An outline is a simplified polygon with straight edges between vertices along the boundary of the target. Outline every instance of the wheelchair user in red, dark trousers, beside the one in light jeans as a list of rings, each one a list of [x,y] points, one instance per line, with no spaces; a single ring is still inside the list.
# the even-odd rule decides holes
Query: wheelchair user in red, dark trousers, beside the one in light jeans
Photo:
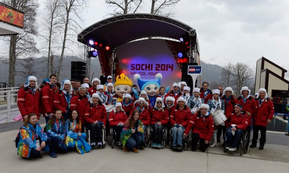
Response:
[[[163,99],[157,97],[155,107],[150,108],[151,122],[153,129],[152,147],[162,147],[163,130],[168,123],[168,111],[165,109]]]

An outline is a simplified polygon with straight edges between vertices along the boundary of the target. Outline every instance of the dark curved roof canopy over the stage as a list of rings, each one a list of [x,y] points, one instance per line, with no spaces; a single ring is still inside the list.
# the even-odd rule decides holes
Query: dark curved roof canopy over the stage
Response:
[[[103,45],[117,47],[145,37],[179,40],[184,34],[198,43],[195,29],[185,23],[159,15],[126,14],[107,18],[87,27],[78,34],[78,41],[89,45],[89,40],[93,40]]]

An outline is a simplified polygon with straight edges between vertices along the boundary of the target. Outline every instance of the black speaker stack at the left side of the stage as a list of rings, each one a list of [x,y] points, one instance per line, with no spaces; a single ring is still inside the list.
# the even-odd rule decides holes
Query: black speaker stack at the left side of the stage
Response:
[[[72,61],[71,62],[71,79],[80,80],[86,77],[86,63],[82,61]]]

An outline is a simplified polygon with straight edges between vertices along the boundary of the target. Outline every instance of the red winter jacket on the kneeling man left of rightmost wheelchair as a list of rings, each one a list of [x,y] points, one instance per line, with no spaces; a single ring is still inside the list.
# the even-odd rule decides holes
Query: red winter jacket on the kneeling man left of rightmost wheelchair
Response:
[[[202,118],[198,111],[189,120],[185,133],[188,135],[191,129],[192,133],[199,133],[200,138],[210,141],[214,131],[214,120],[210,115]]]

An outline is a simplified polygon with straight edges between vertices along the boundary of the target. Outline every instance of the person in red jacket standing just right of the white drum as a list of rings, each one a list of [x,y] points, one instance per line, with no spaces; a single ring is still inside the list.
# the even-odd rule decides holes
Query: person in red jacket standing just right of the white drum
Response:
[[[220,90],[221,92],[221,90]],[[223,95],[221,97],[221,100],[224,100],[225,102],[225,115],[232,113],[234,111],[235,104],[238,103],[238,100],[234,97],[234,91],[231,87],[226,87],[223,91]],[[225,137],[227,127],[223,126],[222,124],[219,125],[218,131],[217,131],[217,142],[221,142],[220,137],[223,132],[223,139]]]

